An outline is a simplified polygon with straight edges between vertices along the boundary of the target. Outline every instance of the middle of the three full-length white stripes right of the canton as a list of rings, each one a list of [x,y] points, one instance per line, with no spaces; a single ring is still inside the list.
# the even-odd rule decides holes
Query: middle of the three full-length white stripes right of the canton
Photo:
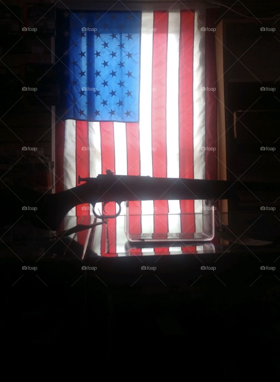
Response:
[[[180,11],[168,13],[166,74],[166,151],[167,177],[179,178],[179,40]],[[169,232],[180,232],[180,202],[169,200]],[[176,215],[175,215],[176,214]]]

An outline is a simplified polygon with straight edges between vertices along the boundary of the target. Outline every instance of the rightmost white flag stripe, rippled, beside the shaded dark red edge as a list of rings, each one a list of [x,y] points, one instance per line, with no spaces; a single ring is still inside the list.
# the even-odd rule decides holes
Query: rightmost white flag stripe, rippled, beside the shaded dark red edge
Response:
[[[195,11],[193,45],[193,160],[194,178],[205,179],[205,9]],[[195,200],[195,230],[202,232],[202,203]]]

